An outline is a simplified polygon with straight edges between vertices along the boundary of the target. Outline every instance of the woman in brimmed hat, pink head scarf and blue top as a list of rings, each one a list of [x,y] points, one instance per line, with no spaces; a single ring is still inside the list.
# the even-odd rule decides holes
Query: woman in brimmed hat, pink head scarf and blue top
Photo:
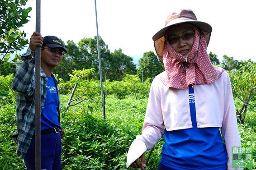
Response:
[[[144,152],[164,135],[158,170],[231,169],[232,147],[241,142],[229,76],[207,54],[211,32],[182,9],[153,36],[165,71],[152,81],[142,134],[129,148],[127,167],[144,170]]]

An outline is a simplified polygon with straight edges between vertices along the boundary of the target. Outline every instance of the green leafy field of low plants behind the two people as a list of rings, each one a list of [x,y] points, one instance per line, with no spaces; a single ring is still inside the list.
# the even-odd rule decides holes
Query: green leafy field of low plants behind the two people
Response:
[[[62,95],[62,107],[69,96]],[[126,170],[128,147],[141,133],[147,98],[118,99],[107,95],[106,119],[103,119],[100,102],[91,113],[83,102],[62,113],[62,126],[66,136],[62,140],[63,170]],[[15,129],[15,106],[0,108],[0,170],[23,170],[23,161],[15,154],[16,144],[10,138]],[[248,113],[245,124],[239,124],[243,146],[256,150],[256,116]],[[156,170],[161,157],[163,139],[152,153],[147,170]],[[146,154],[147,159],[148,152]],[[255,160],[255,157],[254,157]],[[133,169],[133,168],[129,168]]]

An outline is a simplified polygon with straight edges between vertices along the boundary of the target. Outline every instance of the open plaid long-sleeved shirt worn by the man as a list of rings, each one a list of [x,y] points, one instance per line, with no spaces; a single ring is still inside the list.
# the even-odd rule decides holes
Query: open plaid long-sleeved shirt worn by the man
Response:
[[[16,126],[13,134],[16,137],[17,154],[23,159],[28,151],[31,138],[35,131],[35,60],[34,51],[28,48],[27,52],[21,56],[23,63],[19,65],[14,76],[11,87],[18,92],[16,102]],[[30,57],[26,60],[26,57]],[[47,94],[47,77],[41,68],[41,113]],[[59,98],[58,121],[60,123],[60,96],[57,79],[52,75]]]

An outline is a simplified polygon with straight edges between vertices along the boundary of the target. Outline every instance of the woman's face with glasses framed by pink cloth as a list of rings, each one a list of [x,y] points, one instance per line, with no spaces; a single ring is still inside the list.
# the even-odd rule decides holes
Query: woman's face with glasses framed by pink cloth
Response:
[[[177,28],[169,33],[167,41],[176,53],[180,53],[186,58],[193,46],[194,30],[189,27]]]

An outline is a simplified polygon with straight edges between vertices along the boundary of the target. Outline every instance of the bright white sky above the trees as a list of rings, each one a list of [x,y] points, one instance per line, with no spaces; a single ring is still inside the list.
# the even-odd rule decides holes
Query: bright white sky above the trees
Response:
[[[35,31],[36,0],[28,0],[31,18],[24,27],[27,39]],[[221,61],[256,61],[254,52],[256,18],[253,0],[96,0],[98,33],[110,52],[122,49],[138,60],[154,51],[152,36],[164,27],[166,17],[180,9],[191,9],[199,21],[209,23],[213,32],[207,52]],[[97,36],[95,0],[41,0],[42,36],[73,40]],[[156,54],[156,53],[155,53]]]

